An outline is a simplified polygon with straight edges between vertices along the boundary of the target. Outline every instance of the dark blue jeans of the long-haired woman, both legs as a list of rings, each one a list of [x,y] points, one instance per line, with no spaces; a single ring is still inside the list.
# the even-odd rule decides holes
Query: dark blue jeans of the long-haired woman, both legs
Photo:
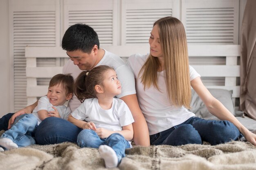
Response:
[[[239,130],[229,121],[205,120],[191,117],[180,125],[173,126],[157,134],[150,135],[150,145],[185,145],[189,143],[211,145],[238,140]]]

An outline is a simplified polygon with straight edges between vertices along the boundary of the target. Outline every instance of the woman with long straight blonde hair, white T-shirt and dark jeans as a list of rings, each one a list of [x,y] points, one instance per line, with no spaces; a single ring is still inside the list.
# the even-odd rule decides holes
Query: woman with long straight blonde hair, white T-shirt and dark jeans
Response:
[[[237,140],[240,132],[256,145],[256,135],[210,94],[200,75],[189,66],[186,33],[180,20],[157,20],[149,44],[150,54],[132,55],[128,65],[136,78],[139,106],[148,124],[151,145],[202,141],[216,145]],[[226,121],[204,120],[189,112],[191,86],[208,110]]]

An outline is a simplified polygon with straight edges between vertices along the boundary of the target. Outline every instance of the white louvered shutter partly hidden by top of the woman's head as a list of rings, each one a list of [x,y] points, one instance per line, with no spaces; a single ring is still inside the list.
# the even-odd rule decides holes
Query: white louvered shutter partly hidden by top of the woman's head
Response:
[[[148,44],[153,23],[159,18],[176,16],[177,0],[122,0],[121,45]]]

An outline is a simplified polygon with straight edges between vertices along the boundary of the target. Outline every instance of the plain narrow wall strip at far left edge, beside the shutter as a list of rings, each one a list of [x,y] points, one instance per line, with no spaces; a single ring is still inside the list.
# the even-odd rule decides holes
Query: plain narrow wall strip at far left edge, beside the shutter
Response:
[[[0,117],[10,109],[9,2],[0,0]]]

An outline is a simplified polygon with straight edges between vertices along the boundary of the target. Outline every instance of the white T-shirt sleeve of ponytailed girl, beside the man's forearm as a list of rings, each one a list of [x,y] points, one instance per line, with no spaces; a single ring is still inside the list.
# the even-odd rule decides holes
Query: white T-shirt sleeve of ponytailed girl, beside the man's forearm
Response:
[[[124,103],[124,101],[121,103],[121,106],[119,107],[119,122],[121,127],[130,125],[134,122],[134,119],[132,117],[132,113],[130,112],[129,107]]]

